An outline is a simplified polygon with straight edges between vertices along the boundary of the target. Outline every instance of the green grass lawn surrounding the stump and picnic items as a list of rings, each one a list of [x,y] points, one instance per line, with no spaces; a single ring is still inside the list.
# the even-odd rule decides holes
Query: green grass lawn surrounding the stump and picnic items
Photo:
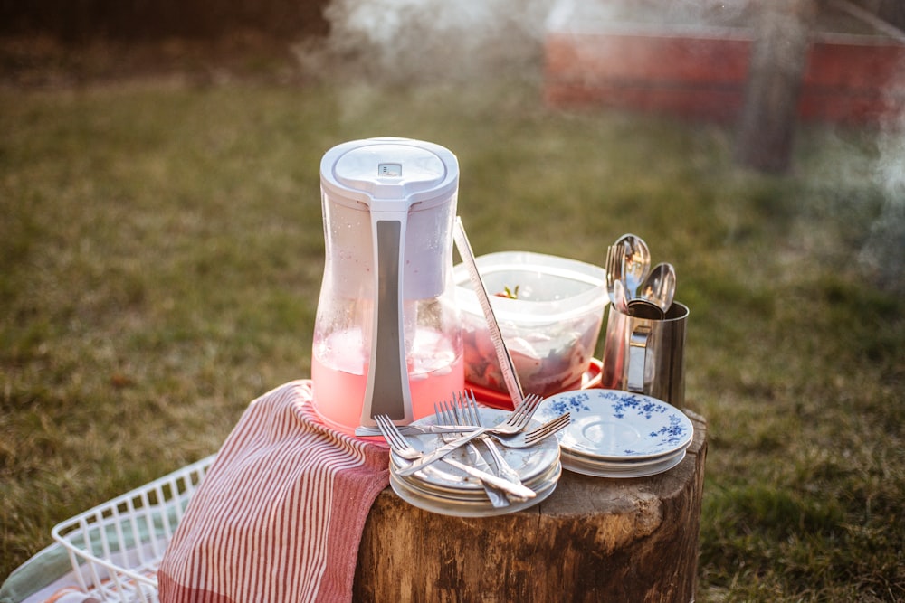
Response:
[[[758,176],[729,127],[482,88],[0,90],[0,576],[310,375],[320,156],[397,135],[459,156],[479,254],[602,263],[632,231],[676,266],[699,600],[905,598],[905,195],[874,133],[805,127]]]

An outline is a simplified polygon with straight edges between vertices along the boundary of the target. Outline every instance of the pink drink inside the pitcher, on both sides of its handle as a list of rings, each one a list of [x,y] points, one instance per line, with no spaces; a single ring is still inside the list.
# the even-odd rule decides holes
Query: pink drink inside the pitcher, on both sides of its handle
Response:
[[[330,427],[352,434],[361,422],[367,387],[369,350],[361,330],[329,335],[311,357],[314,408]],[[429,329],[418,329],[412,349],[406,353],[408,382],[414,419],[433,415],[433,404],[451,400],[465,384],[462,353],[450,340]]]

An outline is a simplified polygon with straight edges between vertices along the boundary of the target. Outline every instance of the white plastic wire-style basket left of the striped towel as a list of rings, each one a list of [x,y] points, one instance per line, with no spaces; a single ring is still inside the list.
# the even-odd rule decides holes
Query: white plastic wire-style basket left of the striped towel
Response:
[[[80,588],[103,601],[157,603],[157,566],[215,455],[53,526]]]

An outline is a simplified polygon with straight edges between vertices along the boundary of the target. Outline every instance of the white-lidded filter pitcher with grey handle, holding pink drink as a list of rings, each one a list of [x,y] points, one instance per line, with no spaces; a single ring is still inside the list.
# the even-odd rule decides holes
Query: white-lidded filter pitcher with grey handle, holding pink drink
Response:
[[[370,138],[320,164],[325,265],[314,406],[336,429],[408,423],[464,385],[452,278],[459,166],[429,142]]]

